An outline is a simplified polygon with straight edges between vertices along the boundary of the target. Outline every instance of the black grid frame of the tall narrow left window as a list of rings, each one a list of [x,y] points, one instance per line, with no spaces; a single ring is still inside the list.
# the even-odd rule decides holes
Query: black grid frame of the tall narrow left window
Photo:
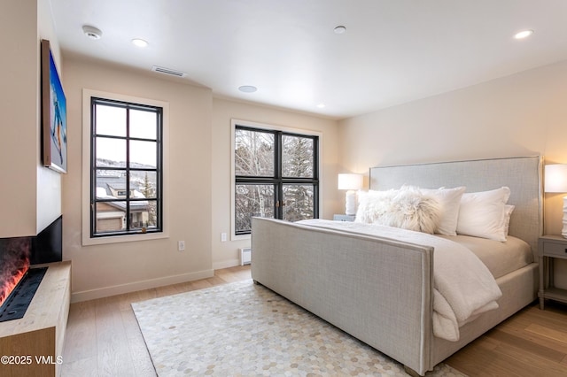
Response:
[[[105,138],[119,139],[126,141],[126,161],[124,167],[104,166],[97,167],[97,104],[124,108],[127,111],[126,117],[126,136],[101,135]],[[151,111],[156,113],[156,139],[147,139],[130,136],[129,110]],[[127,101],[114,100],[99,96],[90,97],[90,238],[104,238],[119,235],[144,235],[163,233],[163,107],[151,104],[136,104]],[[131,141],[156,142],[156,167],[137,168],[130,166],[129,148]],[[126,173],[126,197],[97,198],[97,170],[124,171]],[[155,172],[156,173],[156,195],[155,198],[136,198],[131,197],[130,193],[130,172]],[[156,226],[155,227],[136,227],[130,228],[130,204],[139,201],[154,201],[156,203]],[[120,231],[97,232],[97,203],[126,202],[126,229]]]

